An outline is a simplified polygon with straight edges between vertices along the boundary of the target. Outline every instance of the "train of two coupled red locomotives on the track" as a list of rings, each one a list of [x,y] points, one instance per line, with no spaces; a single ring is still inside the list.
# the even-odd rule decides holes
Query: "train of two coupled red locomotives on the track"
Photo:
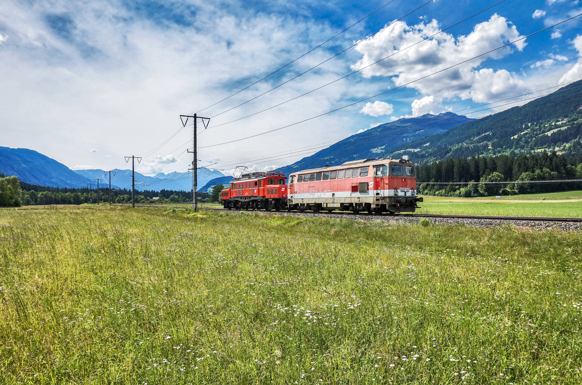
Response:
[[[339,166],[243,174],[222,191],[225,208],[414,212],[423,198],[416,194],[414,164],[402,159],[361,159]]]

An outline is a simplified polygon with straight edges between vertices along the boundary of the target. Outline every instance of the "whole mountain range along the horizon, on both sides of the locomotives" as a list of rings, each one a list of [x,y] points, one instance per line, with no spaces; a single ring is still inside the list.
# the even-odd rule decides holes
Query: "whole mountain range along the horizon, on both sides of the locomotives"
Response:
[[[290,173],[354,159],[399,158],[409,155],[415,163],[473,155],[519,155],[539,151],[567,153],[582,140],[582,80],[523,106],[481,119],[452,112],[426,114],[380,124],[332,144],[278,170]],[[578,150],[576,150],[578,151]],[[577,154],[574,154],[577,155]],[[582,155],[582,154],[580,154]],[[116,188],[131,188],[130,170],[113,170]],[[0,147],[0,173],[50,187],[86,187],[94,179],[105,180],[103,170],[70,170],[62,163],[26,148]],[[227,184],[232,177],[217,170],[198,173],[198,191]],[[191,189],[191,173],[159,173],[153,177],[136,173],[136,189]]]

